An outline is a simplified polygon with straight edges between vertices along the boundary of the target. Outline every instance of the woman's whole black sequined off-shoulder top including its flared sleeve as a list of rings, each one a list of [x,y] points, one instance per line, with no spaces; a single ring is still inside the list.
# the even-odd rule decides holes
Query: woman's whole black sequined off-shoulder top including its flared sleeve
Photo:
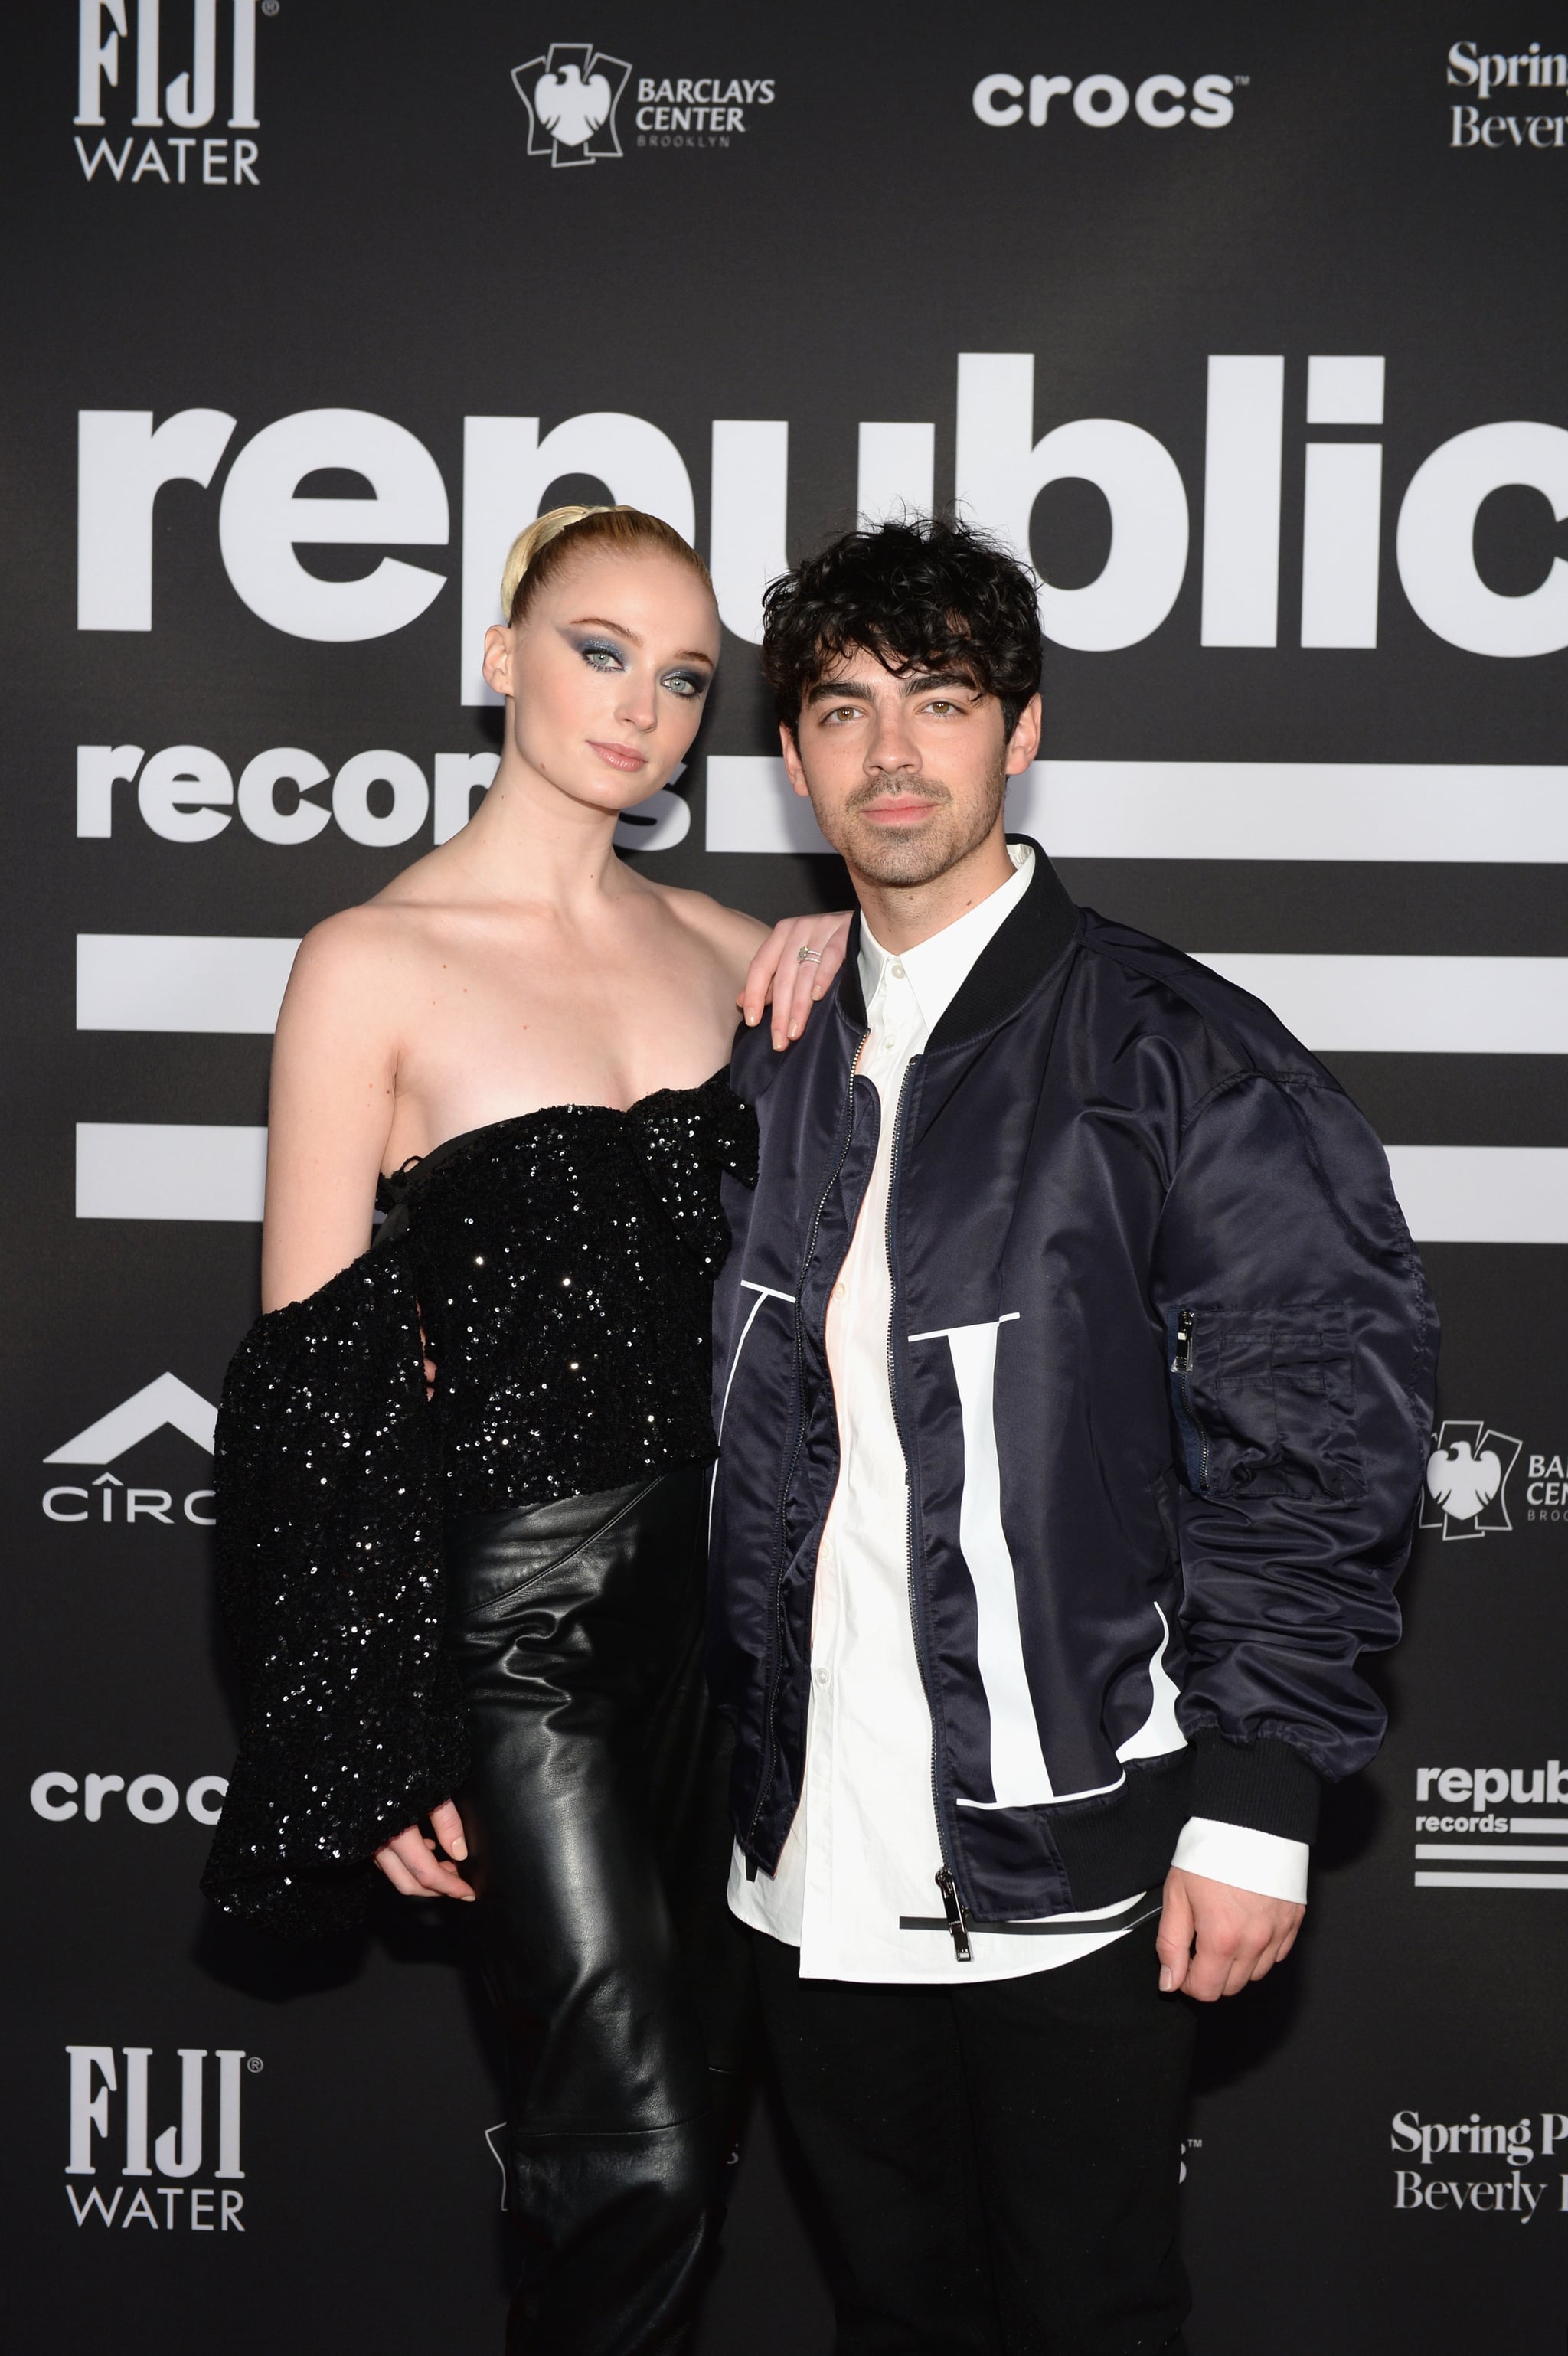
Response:
[[[497,1121],[386,1180],[379,1244],[250,1329],[214,1472],[247,1685],[202,1875],[224,1911],[356,1922],[374,1849],[459,1788],[443,1522],[713,1454],[725,1171],[756,1180],[723,1074]]]

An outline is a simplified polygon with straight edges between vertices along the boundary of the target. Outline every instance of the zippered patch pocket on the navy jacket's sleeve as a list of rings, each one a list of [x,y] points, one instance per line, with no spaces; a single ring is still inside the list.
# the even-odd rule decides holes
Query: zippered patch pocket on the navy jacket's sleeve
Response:
[[[1316,1501],[1366,1494],[1354,1359],[1337,1303],[1184,1308],[1170,1329],[1170,1390],[1191,1489]]]

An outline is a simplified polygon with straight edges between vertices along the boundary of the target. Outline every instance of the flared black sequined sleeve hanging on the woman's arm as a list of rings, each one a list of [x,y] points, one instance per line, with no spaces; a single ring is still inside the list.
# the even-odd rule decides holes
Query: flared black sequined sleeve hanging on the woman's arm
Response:
[[[464,1774],[405,1246],[242,1341],[217,1425],[217,1553],[245,1732],[202,1890],[292,1937],[344,1930],[372,1852]]]

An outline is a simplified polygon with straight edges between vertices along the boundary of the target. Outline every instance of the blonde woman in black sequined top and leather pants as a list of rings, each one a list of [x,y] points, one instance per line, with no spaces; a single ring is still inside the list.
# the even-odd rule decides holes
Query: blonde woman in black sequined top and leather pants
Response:
[[[702,1682],[718,1185],[753,1159],[723,1065],[749,961],[749,1020],[784,957],[798,1032],[843,921],[765,935],[614,858],[718,660],[669,525],[553,509],[501,610],[483,808],[308,935],[278,1023],[268,1315],[219,1425],[252,1708],[207,1887],[332,1927],[374,1852],[478,1899],[509,2347],[643,2356],[695,2307],[744,2029]]]

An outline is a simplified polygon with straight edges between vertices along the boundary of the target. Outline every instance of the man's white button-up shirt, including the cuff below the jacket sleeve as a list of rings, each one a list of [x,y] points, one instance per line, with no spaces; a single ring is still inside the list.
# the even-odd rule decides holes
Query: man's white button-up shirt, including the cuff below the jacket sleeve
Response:
[[[866,1044],[857,1079],[881,1100],[881,1136],[850,1251],[829,1298],[826,1357],[838,1409],[838,1487],[817,1553],[812,1692],[805,1786],[779,1871],[746,1880],[735,1852],[730,1908],[742,1922],[800,1948],[805,1979],[954,1981],[1015,1979],[1090,1955],[1125,1937],[1132,1894],[1088,1915],[1083,1932],[989,1932],[970,1925],[961,1963],[942,1920],[942,1845],[932,1795],[932,1725],[913,1644],[904,1447],[888,1388],[892,1284],[885,1225],[897,1100],[911,1055],[1003,921],[1029,891],[1034,851],[1010,846],[1015,874],[946,931],[902,957],[862,919],[859,978]],[[1304,1897],[1307,1847],[1231,1824],[1194,1819],[1177,1864],[1236,1887]],[[1260,1878],[1262,1875],[1262,1878]],[[1149,1913],[1156,1901],[1149,1901]],[[1107,1927],[1095,1927],[1104,1918]]]

